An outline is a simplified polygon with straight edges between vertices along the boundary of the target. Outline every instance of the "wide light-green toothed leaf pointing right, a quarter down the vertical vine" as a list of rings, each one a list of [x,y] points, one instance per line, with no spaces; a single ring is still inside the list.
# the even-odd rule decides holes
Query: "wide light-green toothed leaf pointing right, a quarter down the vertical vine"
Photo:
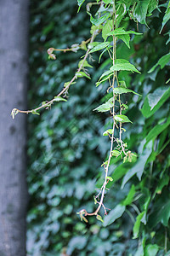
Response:
[[[133,66],[129,61],[123,59],[117,59],[115,65],[110,68],[111,71],[127,70],[131,72],[140,73],[136,67]]]

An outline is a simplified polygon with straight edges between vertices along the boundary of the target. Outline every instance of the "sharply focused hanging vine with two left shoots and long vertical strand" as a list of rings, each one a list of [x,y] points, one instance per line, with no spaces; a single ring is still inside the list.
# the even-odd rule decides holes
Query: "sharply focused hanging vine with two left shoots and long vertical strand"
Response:
[[[78,1],[79,9],[84,1]],[[99,9],[96,13],[97,18],[94,18],[93,15],[90,13],[91,8],[93,6],[99,5]],[[123,27],[119,26],[122,20],[122,17],[126,15],[127,11],[122,9],[123,4],[119,3],[115,0],[105,0],[102,2],[97,1],[97,3],[88,3],[87,5],[87,13],[90,15],[90,21],[92,23],[92,37],[86,41],[82,41],[82,44],[73,44],[71,48],[67,49],[55,49],[49,48],[48,49],[48,56],[50,59],[55,60],[56,56],[54,55],[54,51],[74,51],[77,52],[78,49],[87,49],[86,54],[83,56],[82,61],[79,62],[79,67],[77,72],[75,73],[74,77],[71,79],[70,82],[64,84],[63,90],[61,90],[57,96],[50,101],[42,102],[42,105],[37,108],[33,108],[31,110],[20,110],[18,108],[14,108],[12,110],[12,117],[14,119],[17,113],[33,113],[39,114],[37,111],[41,110],[42,108],[48,109],[51,108],[54,102],[66,101],[65,95],[66,92],[69,90],[71,84],[75,83],[75,80],[81,77],[86,77],[89,79],[89,75],[87,72],[82,71],[83,67],[90,67],[88,64],[88,55],[93,54],[99,50],[103,50],[102,54],[99,56],[99,61],[101,56],[107,52],[111,58],[111,67],[109,70],[105,71],[99,78],[99,81],[96,83],[96,86],[108,82],[109,86],[106,90],[106,93],[109,93],[110,90],[112,91],[111,98],[105,102],[104,104],[100,105],[98,108],[95,108],[95,111],[98,112],[107,112],[111,113],[112,119],[112,128],[104,132],[104,136],[109,136],[111,139],[111,147],[109,151],[108,159],[102,165],[104,166],[105,170],[105,177],[104,182],[99,190],[99,194],[94,196],[94,203],[98,205],[94,212],[88,212],[86,209],[82,209],[77,214],[80,215],[80,218],[84,221],[88,222],[88,219],[85,216],[96,216],[97,219],[103,221],[102,217],[99,215],[99,211],[101,208],[104,209],[105,215],[107,214],[107,208],[104,204],[105,198],[105,191],[106,185],[110,181],[112,181],[112,177],[109,176],[109,166],[111,164],[112,157],[118,157],[121,155],[123,161],[131,161],[135,154],[131,153],[130,150],[127,150],[127,144],[123,143],[122,141],[122,132],[125,129],[122,127],[123,123],[132,123],[126,115],[122,114],[122,111],[127,108],[127,105],[122,102],[121,95],[122,93],[134,93],[133,90],[127,89],[126,81],[120,81],[117,75],[118,71],[129,71],[129,72],[136,72],[139,73],[138,69],[134,67],[129,61],[124,59],[116,59],[116,41],[122,40],[127,47],[130,47],[130,34],[140,35],[139,32],[133,31],[125,31]],[[132,14],[131,14],[132,15]],[[102,32],[102,38],[104,39],[103,42],[95,42],[95,38],[98,34]],[[64,96],[64,97],[61,97]],[[115,105],[116,102],[119,103],[119,113],[116,113]],[[119,131],[119,137],[115,137],[115,129]]]

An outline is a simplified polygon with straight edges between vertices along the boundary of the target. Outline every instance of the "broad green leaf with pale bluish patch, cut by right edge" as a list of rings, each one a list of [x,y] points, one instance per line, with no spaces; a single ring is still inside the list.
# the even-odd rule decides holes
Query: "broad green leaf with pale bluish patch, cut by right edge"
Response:
[[[170,96],[170,87],[157,88],[153,93],[150,93],[144,99],[144,105],[141,109],[144,117],[149,118],[155,113],[161,105],[167,101]]]

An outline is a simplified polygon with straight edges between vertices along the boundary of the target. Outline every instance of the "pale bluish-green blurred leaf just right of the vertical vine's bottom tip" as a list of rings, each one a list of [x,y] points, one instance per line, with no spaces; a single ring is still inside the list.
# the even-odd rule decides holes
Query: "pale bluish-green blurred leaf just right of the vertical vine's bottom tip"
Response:
[[[126,207],[122,205],[117,205],[115,209],[111,210],[108,215],[104,218],[104,226],[111,225],[117,218],[122,216],[122,213],[125,211]]]

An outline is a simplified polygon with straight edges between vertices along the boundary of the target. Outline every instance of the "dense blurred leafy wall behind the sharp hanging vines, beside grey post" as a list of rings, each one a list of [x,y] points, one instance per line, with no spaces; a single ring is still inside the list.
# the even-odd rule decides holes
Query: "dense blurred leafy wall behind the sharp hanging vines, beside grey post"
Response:
[[[29,116],[28,255],[169,255],[169,59],[161,59],[169,51],[169,24],[161,31],[167,2],[159,4],[155,9],[138,3],[134,16],[144,34],[131,36],[130,49],[122,40],[117,44],[117,57],[141,73],[119,73],[127,88],[141,95],[123,95],[126,115],[133,121],[124,125],[123,139],[138,157],[130,163],[112,160],[113,181],[105,195],[111,211],[104,224],[96,218],[81,222],[77,212],[95,209],[93,195],[102,183],[101,164],[110,148],[108,137],[102,136],[109,128],[109,113],[93,111],[105,95],[107,84],[96,88],[95,83],[107,70],[109,56],[103,55],[103,64],[99,54],[90,57],[92,79],[72,84],[67,102]],[[31,1],[30,108],[53,98],[77,70],[85,51],[57,53],[56,61],[47,55],[49,47],[64,49],[90,38],[89,16],[84,5],[78,14],[77,9],[76,1]],[[133,20],[122,24],[136,31]]]

